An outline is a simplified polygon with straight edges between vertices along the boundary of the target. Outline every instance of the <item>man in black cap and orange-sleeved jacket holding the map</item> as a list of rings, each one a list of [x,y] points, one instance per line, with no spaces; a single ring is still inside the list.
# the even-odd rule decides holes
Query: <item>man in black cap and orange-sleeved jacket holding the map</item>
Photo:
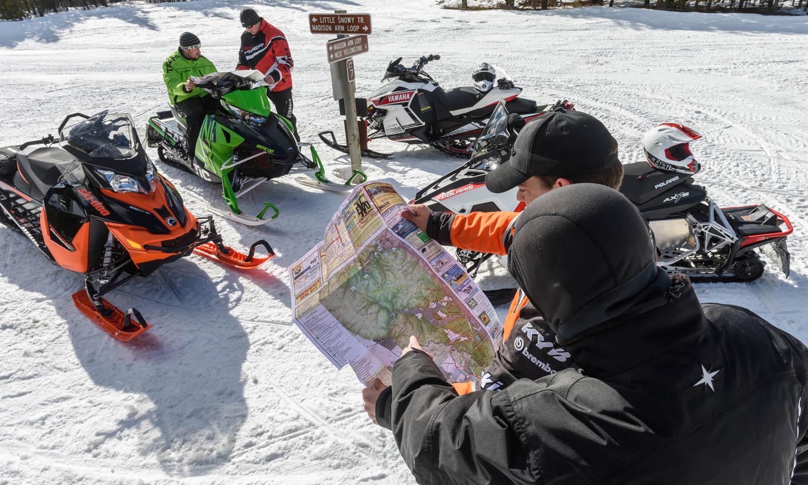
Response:
[[[572,183],[600,183],[620,188],[623,165],[617,141],[594,116],[555,108],[526,124],[516,138],[511,159],[486,176],[491,192],[518,187],[521,206],[538,196]],[[519,212],[432,213],[426,205],[413,205],[415,213],[402,213],[444,246],[506,255]],[[528,338],[529,337],[529,338]],[[529,342],[516,352],[516,339]],[[524,352],[521,352],[524,350]],[[555,335],[530,305],[524,291],[511,302],[503,325],[503,345],[478,381],[455,382],[460,394],[477,389],[501,390],[521,377],[536,379],[566,369],[573,362],[555,344]],[[389,427],[390,390],[381,382],[363,391],[371,419]]]

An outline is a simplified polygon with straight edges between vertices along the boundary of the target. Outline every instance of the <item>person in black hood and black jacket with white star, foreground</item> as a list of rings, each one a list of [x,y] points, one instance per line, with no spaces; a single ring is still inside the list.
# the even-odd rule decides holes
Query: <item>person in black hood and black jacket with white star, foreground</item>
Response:
[[[528,205],[508,269],[580,369],[458,396],[407,348],[391,424],[416,481],[808,483],[808,348],[749,310],[701,305],[654,259],[646,221],[610,188]]]

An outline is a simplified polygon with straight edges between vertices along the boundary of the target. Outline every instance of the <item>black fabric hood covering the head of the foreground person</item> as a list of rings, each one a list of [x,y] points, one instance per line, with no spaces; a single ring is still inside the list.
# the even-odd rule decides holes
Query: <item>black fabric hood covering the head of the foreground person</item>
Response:
[[[662,296],[653,235],[620,192],[575,183],[538,197],[520,214],[508,270],[558,342]]]

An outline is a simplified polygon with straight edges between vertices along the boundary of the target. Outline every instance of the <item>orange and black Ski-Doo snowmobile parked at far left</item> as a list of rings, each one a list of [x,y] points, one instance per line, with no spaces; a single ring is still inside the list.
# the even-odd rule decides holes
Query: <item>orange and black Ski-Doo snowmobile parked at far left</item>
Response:
[[[242,269],[275,255],[266,241],[248,255],[234,251],[222,244],[212,217],[188,212],[127,114],[74,113],[58,133],[0,148],[0,216],[53,263],[84,274],[86,289],[73,301],[116,339],[149,328],[134,308],[124,313],[103,298],[133,277],[191,252]],[[259,246],[267,257],[255,257]]]

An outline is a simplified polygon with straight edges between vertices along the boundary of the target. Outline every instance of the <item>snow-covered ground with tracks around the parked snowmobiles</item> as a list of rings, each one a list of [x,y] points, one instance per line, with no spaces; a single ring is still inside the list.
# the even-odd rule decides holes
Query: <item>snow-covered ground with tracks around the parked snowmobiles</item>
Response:
[[[221,70],[241,31],[232,0],[133,2],[0,23],[0,146],[55,133],[72,112],[129,112],[139,129],[166,106],[161,64],[190,30]],[[524,96],[571,99],[642,159],[642,133],[687,124],[698,175],[722,205],[763,203],[789,215],[792,274],[769,265],[755,283],[697,285],[702,301],[747,306],[808,343],[808,40],[806,17],[583,8],[446,11],[433,0],[276,0],[255,8],[288,37],[296,113],[306,141],[342,125],[330,96],[326,36],[307,14],[373,15],[370,53],[356,57],[358,94],[387,62],[439,53],[429,73],[467,85],[473,67],[505,68]],[[372,179],[406,196],[457,166],[423,146],[366,160]],[[318,144],[331,167],[347,160]],[[153,158],[156,154],[152,153]],[[195,213],[219,189],[160,166]],[[0,227],[0,484],[413,483],[389,432],[362,411],[360,383],[335,370],[293,326],[286,268],[322,238],[340,196],[270,183],[281,216],[250,228],[221,221],[225,242],[267,238],[263,272],[232,272],[195,256],[111,293],[154,323],[123,344],[79,314],[82,278],[49,264]],[[507,285],[491,264],[486,287]]]

